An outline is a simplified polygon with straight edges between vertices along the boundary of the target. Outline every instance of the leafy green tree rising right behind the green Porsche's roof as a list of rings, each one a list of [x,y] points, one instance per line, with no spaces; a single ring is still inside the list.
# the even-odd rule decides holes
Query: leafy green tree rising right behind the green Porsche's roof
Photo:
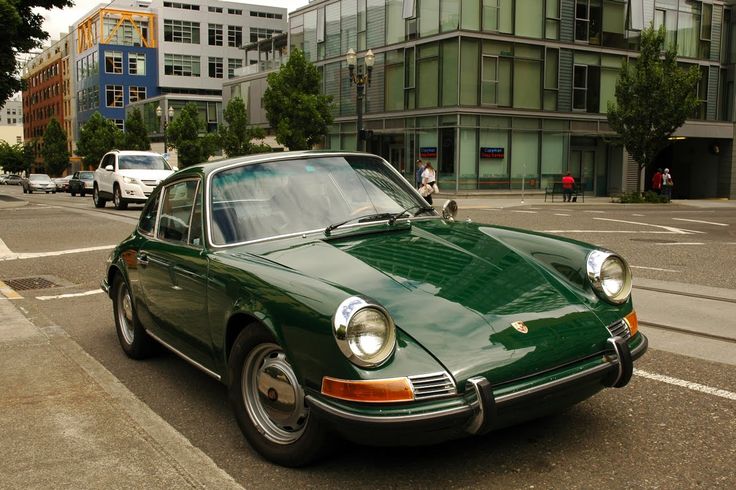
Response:
[[[290,150],[314,147],[332,124],[332,97],[321,95],[319,87],[317,68],[298,49],[278,72],[268,75],[262,104],[276,141]]]

